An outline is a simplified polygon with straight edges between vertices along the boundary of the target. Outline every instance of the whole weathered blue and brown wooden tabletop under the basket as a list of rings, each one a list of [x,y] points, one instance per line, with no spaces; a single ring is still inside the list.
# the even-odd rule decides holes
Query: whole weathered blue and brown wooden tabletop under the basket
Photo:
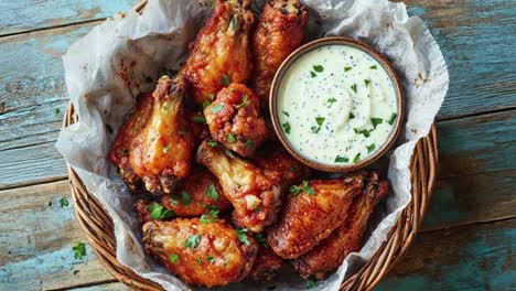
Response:
[[[86,239],[54,143],[67,104],[61,56],[135,2],[0,0],[0,290],[126,290],[89,246],[74,258]],[[515,290],[516,1],[406,3],[441,45],[450,90],[424,226],[377,289]]]

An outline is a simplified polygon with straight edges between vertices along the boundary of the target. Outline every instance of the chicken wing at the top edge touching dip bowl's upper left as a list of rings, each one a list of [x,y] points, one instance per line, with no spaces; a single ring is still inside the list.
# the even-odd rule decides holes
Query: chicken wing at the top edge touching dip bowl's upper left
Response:
[[[252,34],[254,72],[251,88],[261,107],[269,105],[269,91],[276,71],[304,37],[307,8],[299,0],[271,0]]]

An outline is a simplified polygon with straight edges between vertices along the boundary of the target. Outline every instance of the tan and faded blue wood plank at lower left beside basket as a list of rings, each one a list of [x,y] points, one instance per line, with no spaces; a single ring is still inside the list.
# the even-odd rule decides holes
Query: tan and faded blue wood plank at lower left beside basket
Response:
[[[75,220],[67,181],[0,191],[0,290],[47,290],[112,280]],[[60,200],[67,198],[67,207]]]

